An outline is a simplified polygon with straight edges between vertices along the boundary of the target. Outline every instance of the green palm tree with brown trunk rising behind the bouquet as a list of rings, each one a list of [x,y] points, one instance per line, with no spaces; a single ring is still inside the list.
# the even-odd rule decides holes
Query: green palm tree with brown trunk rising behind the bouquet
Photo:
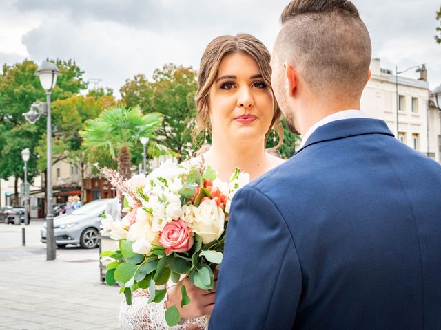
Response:
[[[161,128],[162,121],[161,113],[142,115],[139,107],[114,106],[105,109],[97,118],[87,120],[79,134],[87,148],[105,151],[112,159],[117,159],[119,173],[129,179],[132,177],[130,150],[139,144],[140,137],[150,138],[147,153],[152,156],[178,155],[156,142],[156,131]]]

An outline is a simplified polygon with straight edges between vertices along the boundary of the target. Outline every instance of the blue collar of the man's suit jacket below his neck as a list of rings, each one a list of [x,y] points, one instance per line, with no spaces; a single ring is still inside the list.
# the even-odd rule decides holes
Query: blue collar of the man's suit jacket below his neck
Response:
[[[384,120],[370,118],[335,120],[334,122],[329,122],[328,124],[318,127],[318,129],[316,129],[316,131],[314,131],[314,133],[308,138],[305,145],[300,148],[296,154],[300,153],[300,151],[308,146],[311,146],[311,144],[365,134],[384,134],[394,136]]]

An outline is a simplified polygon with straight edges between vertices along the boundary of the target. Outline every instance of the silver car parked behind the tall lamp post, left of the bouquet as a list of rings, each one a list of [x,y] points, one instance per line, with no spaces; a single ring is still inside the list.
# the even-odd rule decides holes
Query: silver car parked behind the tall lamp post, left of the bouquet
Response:
[[[99,244],[101,214],[112,198],[98,199],[81,206],[71,214],[54,217],[54,236],[57,246],[79,244],[82,248],[92,249]],[[46,223],[41,230],[41,242],[46,243]]]

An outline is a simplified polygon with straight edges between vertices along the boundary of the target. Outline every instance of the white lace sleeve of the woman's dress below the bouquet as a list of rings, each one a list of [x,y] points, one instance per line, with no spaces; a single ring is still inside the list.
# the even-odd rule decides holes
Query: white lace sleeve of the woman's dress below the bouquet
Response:
[[[161,285],[158,289],[165,289]],[[147,303],[149,300],[148,290],[138,290],[132,294],[132,305],[127,305],[125,300],[119,307],[119,322],[123,330],[185,330],[191,326],[200,329],[207,327],[205,316],[191,320],[181,320],[178,325],[168,327],[165,322],[165,303]]]

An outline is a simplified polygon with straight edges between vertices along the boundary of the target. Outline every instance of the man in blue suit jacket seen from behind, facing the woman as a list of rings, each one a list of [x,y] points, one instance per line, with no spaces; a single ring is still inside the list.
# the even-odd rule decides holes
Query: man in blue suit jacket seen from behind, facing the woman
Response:
[[[234,197],[209,329],[441,329],[441,166],[359,110],[350,1],[282,23],[272,85],[302,148]]]

